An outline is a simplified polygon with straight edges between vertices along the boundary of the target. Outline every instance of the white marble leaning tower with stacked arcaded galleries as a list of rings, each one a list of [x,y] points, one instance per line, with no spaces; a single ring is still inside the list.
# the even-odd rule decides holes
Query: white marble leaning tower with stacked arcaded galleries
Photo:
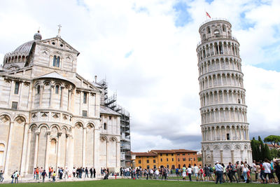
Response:
[[[202,23],[197,45],[202,162],[252,163],[239,42],[228,20]]]

